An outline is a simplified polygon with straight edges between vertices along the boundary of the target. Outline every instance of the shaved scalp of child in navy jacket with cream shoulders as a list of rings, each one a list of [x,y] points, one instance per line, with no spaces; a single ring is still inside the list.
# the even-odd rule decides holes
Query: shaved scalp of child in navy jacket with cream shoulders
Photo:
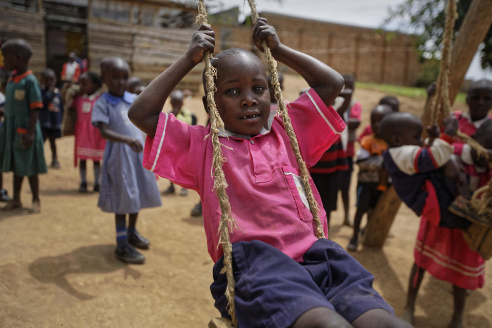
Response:
[[[379,126],[379,134],[391,146],[393,136],[402,136],[417,129],[422,129],[420,118],[411,113],[397,112],[384,116]]]

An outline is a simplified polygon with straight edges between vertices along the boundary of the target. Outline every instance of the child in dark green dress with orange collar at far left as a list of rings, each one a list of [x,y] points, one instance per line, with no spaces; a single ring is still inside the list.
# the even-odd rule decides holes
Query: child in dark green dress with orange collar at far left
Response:
[[[38,213],[39,173],[46,173],[39,110],[43,108],[39,83],[28,70],[32,48],[24,39],[10,39],[2,45],[5,66],[14,71],[6,87],[5,118],[0,131],[0,171],[14,172],[14,197],[4,210],[22,208],[20,189],[27,176],[32,192],[30,213]]]

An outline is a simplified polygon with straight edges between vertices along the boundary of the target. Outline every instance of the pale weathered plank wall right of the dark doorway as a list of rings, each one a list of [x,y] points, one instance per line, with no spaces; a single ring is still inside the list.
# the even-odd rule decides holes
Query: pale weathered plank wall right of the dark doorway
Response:
[[[119,25],[90,19],[87,29],[90,69],[99,72],[101,59],[118,56],[128,61],[132,75],[149,83],[188,49],[194,31]],[[202,65],[197,65],[178,88],[201,90],[202,69]]]

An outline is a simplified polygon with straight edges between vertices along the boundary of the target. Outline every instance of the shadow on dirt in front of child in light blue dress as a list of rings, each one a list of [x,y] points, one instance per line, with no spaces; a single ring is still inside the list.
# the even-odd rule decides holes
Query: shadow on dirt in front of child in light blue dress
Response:
[[[124,270],[125,278],[140,277],[139,271],[114,258],[114,248],[114,245],[93,245],[58,256],[38,258],[29,264],[29,272],[40,282],[54,283],[80,300],[92,299],[95,296],[75,290],[65,276],[72,273],[109,273]]]

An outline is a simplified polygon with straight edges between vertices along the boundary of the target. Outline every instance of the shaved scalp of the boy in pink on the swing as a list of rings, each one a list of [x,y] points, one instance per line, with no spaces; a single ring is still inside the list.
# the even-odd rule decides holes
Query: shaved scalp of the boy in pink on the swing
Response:
[[[237,70],[241,70],[244,66],[258,65],[261,66],[265,72],[265,77],[267,76],[267,69],[265,69],[260,58],[258,58],[254,53],[241,48],[229,48],[210,59],[210,63],[213,67],[217,69],[217,77],[220,76],[220,69],[224,67],[234,66]],[[202,73],[203,90],[207,93],[205,87],[205,70]]]

